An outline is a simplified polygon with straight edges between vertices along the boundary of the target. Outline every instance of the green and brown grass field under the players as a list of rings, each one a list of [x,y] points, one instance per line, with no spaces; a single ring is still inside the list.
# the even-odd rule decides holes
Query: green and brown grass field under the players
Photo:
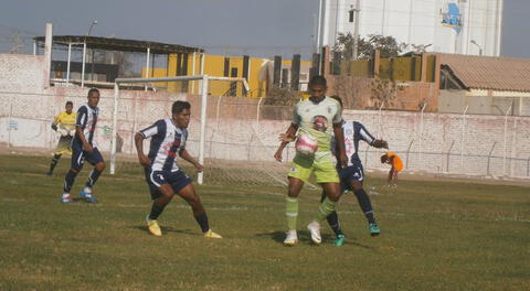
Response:
[[[197,186],[210,223],[205,239],[176,198],[147,234],[150,198],[138,168],[104,174],[98,204],[59,203],[63,175],[47,157],[0,155],[0,290],[529,290],[530,187],[369,179],[382,229],[368,234],[354,196],[339,205],[347,245],[310,244],[306,224],[319,193],[300,196],[300,244],[288,248],[284,187]],[[135,170],[136,169],[136,170]],[[86,181],[88,168],[73,193]]]

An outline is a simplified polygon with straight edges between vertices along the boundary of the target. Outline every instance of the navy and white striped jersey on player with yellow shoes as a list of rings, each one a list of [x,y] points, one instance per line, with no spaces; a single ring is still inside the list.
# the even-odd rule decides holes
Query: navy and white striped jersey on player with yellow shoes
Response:
[[[144,138],[151,138],[149,154],[152,171],[178,171],[177,154],[186,149],[188,129],[178,128],[171,119],[160,119],[140,130]]]

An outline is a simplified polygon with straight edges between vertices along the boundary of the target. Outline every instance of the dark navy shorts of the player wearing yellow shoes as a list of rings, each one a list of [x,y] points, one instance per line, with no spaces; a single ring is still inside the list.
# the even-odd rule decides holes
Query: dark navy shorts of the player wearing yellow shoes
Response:
[[[145,168],[145,171],[146,182],[149,186],[149,192],[151,193],[151,200],[156,200],[160,196],[158,188],[162,184],[170,184],[174,193],[178,193],[183,187],[191,184],[191,177],[180,170],[174,172],[152,171],[151,168]]]

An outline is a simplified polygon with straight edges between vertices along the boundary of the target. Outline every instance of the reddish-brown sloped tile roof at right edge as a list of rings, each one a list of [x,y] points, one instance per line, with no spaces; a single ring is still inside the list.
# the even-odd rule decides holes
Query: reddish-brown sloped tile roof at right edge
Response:
[[[467,89],[530,91],[530,60],[441,54],[441,64]]]

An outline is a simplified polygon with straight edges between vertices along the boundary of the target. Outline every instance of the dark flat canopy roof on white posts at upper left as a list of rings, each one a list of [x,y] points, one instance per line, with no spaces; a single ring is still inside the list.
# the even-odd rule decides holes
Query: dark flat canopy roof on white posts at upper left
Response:
[[[44,42],[44,36],[36,36],[33,40],[36,42]],[[54,45],[65,45],[68,43],[84,43],[86,40],[86,47],[106,50],[106,51],[121,51],[121,52],[140,52],[145,53],[147,48],[150,48],[152,54],[174,54],[174,53],[193,53],[204,52],[204,50],[192,46],[184,46],[178,44],[167,44],[158,42],[146,42],[135,40],[123,40],[114,37],[98,37],[98,36],[85,36],[85,35],[54,35]]]

